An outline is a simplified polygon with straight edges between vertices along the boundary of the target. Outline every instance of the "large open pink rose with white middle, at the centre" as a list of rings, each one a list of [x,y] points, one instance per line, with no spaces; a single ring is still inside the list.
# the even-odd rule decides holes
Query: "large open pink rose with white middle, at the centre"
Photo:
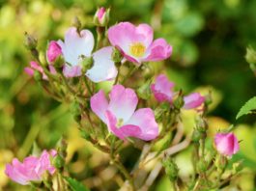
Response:
[[[150,108],[135,111],[138,97],[133,90],[122,85],[113,86],[109,101],[102,90],[91,97],[91,108],[108,130],[120,139],[136,137],[145,141],[158,135],[158,125]]]

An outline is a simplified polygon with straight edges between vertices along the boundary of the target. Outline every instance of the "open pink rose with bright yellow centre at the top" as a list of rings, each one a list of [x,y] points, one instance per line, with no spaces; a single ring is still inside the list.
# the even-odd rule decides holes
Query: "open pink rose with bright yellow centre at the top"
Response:
[[[171,56],[172,46],[164,39],[153,41],[154,31],[148,24],[134,26],[121,22],[108,29],[108,40],[130,62],[161,61]]]

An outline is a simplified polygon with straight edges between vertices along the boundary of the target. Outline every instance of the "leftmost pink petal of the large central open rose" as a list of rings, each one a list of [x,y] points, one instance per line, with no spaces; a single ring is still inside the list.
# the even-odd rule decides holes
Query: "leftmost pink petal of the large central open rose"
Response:
[[[90,100],[91,108],[93,112],[100,118],[100,120],[106,123],[105,112],[108,107],[108,101],[102,90],[99,93],[93,95]]]

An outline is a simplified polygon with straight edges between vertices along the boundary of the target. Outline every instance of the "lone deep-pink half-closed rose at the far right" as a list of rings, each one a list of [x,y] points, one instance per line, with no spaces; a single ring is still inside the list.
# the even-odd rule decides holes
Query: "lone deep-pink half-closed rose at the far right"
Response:
[[[222,155],[232,156],[240,150],[239,141],[233,133],[216,133],[214,144]]]

